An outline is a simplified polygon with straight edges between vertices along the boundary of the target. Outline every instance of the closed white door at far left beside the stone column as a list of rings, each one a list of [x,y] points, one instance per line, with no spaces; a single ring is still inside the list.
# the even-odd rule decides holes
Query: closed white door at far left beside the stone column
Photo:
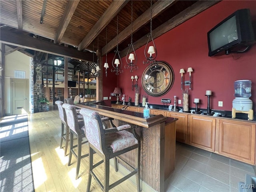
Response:
[[[28,79],[12,78],[12,115],[28,111]]]

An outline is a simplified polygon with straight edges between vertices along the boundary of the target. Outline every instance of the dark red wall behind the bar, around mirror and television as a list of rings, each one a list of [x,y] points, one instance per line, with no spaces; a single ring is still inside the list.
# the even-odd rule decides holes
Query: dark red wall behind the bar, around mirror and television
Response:
[[[253,109],[256,112],[256,45],[243,54],[208,57],[207,32],[241,8],[250,8],[252,20],[256,22],[255,1],[222,1],[154,40],[158,52],[156,59],[168,62],[172,66],[174,84],[170,91],[163,96],[147,96],[147,101],[150,104],[161,104],[161,98],[171,98],[171,104],[173,104],[175,95],[182,100],[179,72],[181,68],[184,68],[186,72],[188,67],[192,67],[194,72],[192,72],[192,90],[189,90],[190,107],[195,107],[194,98],[200,98],[199,108],[207,108],[205,92],[212,90],[211,108],[230,111],[234,99],[234,81],[251,80],[252,96],[250,99],[253,101]],[[104,78],[104,96],[109,96],[116,85],[122,88],[123,94],[126,95],[126,101],[130,96],[134,102],[135,92],[132,91],[130,77],[137,75],[140,86],[139,102],[142,102],[141,96],[146,94],[141,86],[142,73],[146,68],[142,64],[145,59],[144,48],[145,46],[136,50],[138,70],[130,73],[130,70],[123,68],[123,74],[116,77],[112,73],[108,78]],[[125,64],[125,58],[122,58],[122,62]],[[117,78],[116,84],[114,84],[115,78]],[[183,79],[189,80],[187,72]],[[184,88],[189,88],[189,86],[184,86]],[[218,107],[218,101],[223,101],[223,107]],[[182,104],[177,104],[177,106],[182,106]]]

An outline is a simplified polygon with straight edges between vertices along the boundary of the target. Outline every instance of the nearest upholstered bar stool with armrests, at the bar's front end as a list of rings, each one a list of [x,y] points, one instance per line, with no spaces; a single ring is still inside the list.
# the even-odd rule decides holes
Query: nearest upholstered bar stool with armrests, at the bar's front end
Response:
[[[108,128],[104,130],[102,120],[98,112],[90,109],[81,109],[80,114],[84,116],[84,125],[86,130],[86,138],[89,145],[89,175],[87,192],[90,191],[90,185],[92,176],[96,180],[96,183],[104,192],[108,192],[121,182],[127,180],[134,174],[136,174],[137,190],[140,192],[140,138],[136,134],[134,127],[129,124],[118,126],[116,128]],[[132,128],[132,132],[126,131],[126,129]],[[109,185],[109,160],[116,158],[121,154],[124,154],[130,150],[138,150],[138,156],[136,158],[137,168],[132,168],[132,172],[120,180]],[[102,161],[93,165],[93,151],[102,157]],[[118,157],[119,158],[119,157]],[[104,162],[104,185],[96,177],[93,169]],[[115,164],[115,166],[117,166]],[[115,167],[116,168],[116,167]],[[117,171],[117,168],[116,168]]]

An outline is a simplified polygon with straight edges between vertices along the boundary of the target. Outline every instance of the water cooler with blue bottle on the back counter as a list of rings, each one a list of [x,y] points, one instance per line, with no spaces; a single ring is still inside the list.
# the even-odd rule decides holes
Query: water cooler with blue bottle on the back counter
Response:
[[[252,82],[250,80],[238,80],[234,82],[235,99],[232,102],[232,118],[236,118],[236,113],[248,114],[248,119],[253,119],[251,96]]]

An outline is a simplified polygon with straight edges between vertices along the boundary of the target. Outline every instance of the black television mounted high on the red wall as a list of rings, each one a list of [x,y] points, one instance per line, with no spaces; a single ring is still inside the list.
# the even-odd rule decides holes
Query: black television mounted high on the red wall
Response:
[[[207,38],[208,56],[246,52],[255,42],[250,10],[237,10],[212,28]]]

